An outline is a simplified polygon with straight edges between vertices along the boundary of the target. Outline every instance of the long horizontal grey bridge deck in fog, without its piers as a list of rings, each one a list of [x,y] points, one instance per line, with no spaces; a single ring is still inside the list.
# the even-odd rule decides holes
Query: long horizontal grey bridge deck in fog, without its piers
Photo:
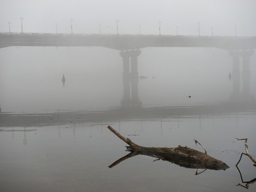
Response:
[[[145,47],[214,47],[256,49],[256,37],[0,33],[0,48],[9,46],[101,46],[120,51]]]

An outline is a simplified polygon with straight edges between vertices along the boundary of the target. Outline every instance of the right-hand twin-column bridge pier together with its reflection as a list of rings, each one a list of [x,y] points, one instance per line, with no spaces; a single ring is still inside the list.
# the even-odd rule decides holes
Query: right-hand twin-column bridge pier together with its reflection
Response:
[[[243,61],[243,71],[242,71],[242,82],[243,82],[243,97],[248,99],[250,96],[250,56],[254,54],[253,50],[250,51],[235,51],[229,52],[229,55],[233,58],[233,93],[234,96],[238,99],[240,96],[240,66],[239,59],[242,57]]]

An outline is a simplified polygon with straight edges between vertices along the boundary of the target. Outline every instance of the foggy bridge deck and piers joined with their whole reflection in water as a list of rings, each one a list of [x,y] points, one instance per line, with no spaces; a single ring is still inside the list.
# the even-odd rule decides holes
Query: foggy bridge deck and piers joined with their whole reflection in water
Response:
[[[48,114],[55,117],[54,121],[47,121],[47,118],[38,120],[38,115],[40,116],[40,114],[27,116],[28,121],[24,121],[26,117],[22,115],[1,114],[0,127],[70,124],[70,118],[73,118],[76,114],[86,115],[84,115],[84,118],[80,116],[81,118],[79,119],[73,119],[72,122],[75,124],[85,122],[102,123],[125,119],[162,119],[172,116],[233,113],[256,109],[255,101],[250,93],[250,56],[254,53],[250,49],[256,48],[255,37],[0,34],[0,48],[8,46],[102,46],[120,50],[119,54],[123,58],[124,96],[121,106],[116,108],[109,108],[103,111],[61,113],[61,115],[57,113]],[[137,58],[141,53],[139,49],[144,47],[215,47],[228,50],[229,55],[233,58],[233,93],[231,94],[230,101],[206,105],[143,108],[138,93],[139,74]],[[240,57],[243,58],[242,94],[240,94]]]

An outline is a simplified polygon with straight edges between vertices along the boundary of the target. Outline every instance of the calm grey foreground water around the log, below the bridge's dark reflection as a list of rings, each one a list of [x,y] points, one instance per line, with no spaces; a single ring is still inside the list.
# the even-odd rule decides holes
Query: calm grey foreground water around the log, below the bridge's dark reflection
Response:
[[[181,113],[182,110],[179,110],[181,109],[178,108],[177,112]],[[94,118],[97,119],[97,116],[103,114],[95,113]],[[115,114],[112,112],[112,116]],[[255,110],[158,118],[160,114],[161,110],[156,116],[152,116],[150,112],[148,118],[114,120],[112,117],[111,121],[106,122],[92,120],[89,113],[34,117],[33,114],[23,115],[19,121],[31,120],[28,123],[30,126],[19,127],[17,124],[14,127],[1,128],[0,161],[4,166],[1,168],[0,184],[4,191],[131,191],[131,183],[134,191],[141,191],[141,188],[144,188],[142,191],[242,189],[236,186],[240,174],[235,164],[244,151],[244,146],[240,142],[236,143],[235,136],[248,136],[250,152],[256,154],[253,148],[256,145],[253,140],[256,134]],[[65,124],[60,121],[64,119],[62,115],[69,119]],[[109,114],[108,117],[110,116]],[[145,116],[144,114],[141,117]],[[41,125],[36,123],[35,118]],[[190,170],[166,161],[153,161],[152,157],[147,156],[133,156],[109,169],[113,159],[125,156],[127,152],[123,150],[123,141],[107,129],[108,124],[118,128],[122,135],[135,143],[149,147],[172,147],[181,144],[201,150],[193,147],[193,139],[198,139],[207,149],[207,154],[223,160],[230,169],[225,172],[208,170],[199,174],[204,170]],[[252,167],[244,159],[239,163],[239,169],[246,178],[255,177]],[[253,186],[250,188],[253,189]]]

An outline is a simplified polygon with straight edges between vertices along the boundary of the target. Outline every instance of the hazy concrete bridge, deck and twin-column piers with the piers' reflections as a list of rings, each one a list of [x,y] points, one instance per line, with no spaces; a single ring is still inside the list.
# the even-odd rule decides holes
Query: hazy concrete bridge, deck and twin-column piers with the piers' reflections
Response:
[[[171,35],[106,35],[0,33],[0,48],[9,46],[101,46],[121,51],[123,58],[123,106],[141,106],[138,96],[137,57],[145,47],[214,47],[229,51],[233,58],[233,95],[240,97],[239,58],[243,58],[243,97],[250,98],[250,56],[256,49],[256,37],[171,36]],[[128,51],[130,50],[130,51]],[[130,86],[131,85],[131,86]]]

